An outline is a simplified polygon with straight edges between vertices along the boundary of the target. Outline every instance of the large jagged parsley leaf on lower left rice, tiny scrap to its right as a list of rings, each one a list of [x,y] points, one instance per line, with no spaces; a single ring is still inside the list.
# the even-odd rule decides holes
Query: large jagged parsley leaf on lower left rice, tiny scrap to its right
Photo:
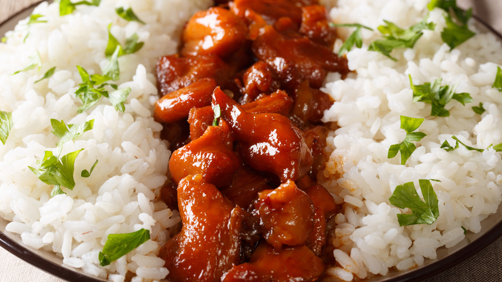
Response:
[[[82,150],[68,153],[61,160],[58,160],[51,151],[45,151],[44,159],[37,161],[37,164],[40,165],[39,168],[28,168],[45,184],[54,185],[51,192],[52,197],[64,194],[61,186],[70,190],[73,190],[75,187],[75,180],[73,178],[75,159]]]

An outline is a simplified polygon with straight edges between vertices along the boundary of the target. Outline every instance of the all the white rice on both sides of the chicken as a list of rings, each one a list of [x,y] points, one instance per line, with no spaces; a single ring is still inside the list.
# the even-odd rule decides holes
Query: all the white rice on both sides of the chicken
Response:
[[[337,23],[359,23],[376,28],[389,20],[409,27],[427,13],[427,0],[338,0],[330,15]],[[209,0],[103,0],[99,8],[79,6],[72,15],[59,17],[58,5],[41,4],[34,14],[48,23],[27,26],[22,21],[10,32],[7,44],[0,44],[0,110],[12,111],[14,127],[5,146],[0,145],[0,216],[12,221],[6,231],[18,233],[36,249],[56,252],[66,267],[113,281],[135,273],[133,281],[163,279],[168,270],[156,256],[168,238],[165,230],[180,221],[179,213],[155,201],[167,180],[166,144],[159,139],[161,125],[151,115],[157,98],[154,66],[158,57],[175,53],[179,30],[195,11]],[[116,7],[131,6],[147,24],[118,18]],[[502,200],[500,154],[482,153],[460,146],[446,152],[439,147],[455,134],[476,148],[502,143],[502,94],[491,88],[497,64],[502,64],[501,46],[491,34],[478,33],[453,51],[440,32],[443,12],[434,10],[429,21],[435,31],[424,31],[414,49],[397,50],[394,62],[367,51],[367,44],[379,38],[363,30],[365,46],[347,54],[355,72],[345,80],[331,74],[324,88],[335,100],[325,121],[339,128],[328,137],[330,158],[324,185],[339,204],[338,224],[332,240],[338,266],[327,272],[338,279],[385,275],[396,267],[404,270],[435,258],[440,246],[451,247],[464,238],[462,227],[480,230],[480,221],[494,213]],[[101,73],[106,64],[107,26],[125,42],[134,33],[145,46],[137,53],[119,58],[119,88],[132,92],[124,113],[102,98],[97,106],[77,114],[80,101],[75,90],[81,82],[76,65]],[[475,27],[471,26],[471,29]],[[340,29],[348,36],[350,29]],[[26,35],[29,33],[28,37]],[[26,41],[24,39],[26,37]],[[339,48],[337,42],[335,49]],[[40,54],[42,68],[11,75]],[[55,74],[34,83],[56,66]],[[357,75],[356,75],[357,74]],[[468,92],[474,102],[462,106],[451,101],[449,117],[431,117],[430,105],[413,104],[408,74],[415,84],[443,78],[444,84],[459,83],[458,92]],[[486,111],[474,113],[472,105],[482,102]],[[354,114],[357,112],[357,114]],[[419,131],[427,136],[406,166],[399,156],[387,159],[389,147],[401,142],[400,115],[425,117]],[[29,169],[43,158],[44,151],[56,152],[57,138],[50,132],[50,119],[82,123],[94,119],[94,129],[63,148],[63,154],[85,149],[75,162],[75,171],[89,169],[99,161],[89,178],[75,173],[73,191],[51,198],[52,187],[42,183]],[[396,214],[407,212],[389,204],[397,185],[419,179],[433,183],[439,199],[438,220],[432,225],[400,227]],[[420,191],[418,191],[420,194]],[[150,240],[109,266],[97,258],[106,237],[146,228]],[[130,278],[130,277],[128,277]]]

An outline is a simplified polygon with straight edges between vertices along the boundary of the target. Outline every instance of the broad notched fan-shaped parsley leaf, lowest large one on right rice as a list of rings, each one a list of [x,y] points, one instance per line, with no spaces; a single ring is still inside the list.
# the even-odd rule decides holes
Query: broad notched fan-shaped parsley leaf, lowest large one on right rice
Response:
[[[425,202],[418,196],[413,182],[398,185],[389,198],[389,203],[391,203],[391,205],[401,209],[411,209],[411,214],[397,215],[399,226],[422,223],[430,225],[434,223],[439,216],[438,198],[434,189],[432,189],[431,181],[428,179],[420,179],[418,182]]]

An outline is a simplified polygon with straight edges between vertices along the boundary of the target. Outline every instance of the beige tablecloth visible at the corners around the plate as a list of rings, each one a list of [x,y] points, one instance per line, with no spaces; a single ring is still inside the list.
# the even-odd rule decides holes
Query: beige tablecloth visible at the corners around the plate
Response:
[[[18,11],[37,2],[39,0],[0,0],[0,23]],[[458,0],[458,3],[463,7],[472,6],[472,3],[474,3],[474,14],[483,15],[480,17],[483,21],[490,23],[496,30],[502,33],[502,17],[499,16],[502,13],[502,1]],[[502,239],[498,239],[465,262],[426,281],[502,281],[501,253]],[[0,281],[60,282],[63,280],[32,266],[3,248],[0,248]]]

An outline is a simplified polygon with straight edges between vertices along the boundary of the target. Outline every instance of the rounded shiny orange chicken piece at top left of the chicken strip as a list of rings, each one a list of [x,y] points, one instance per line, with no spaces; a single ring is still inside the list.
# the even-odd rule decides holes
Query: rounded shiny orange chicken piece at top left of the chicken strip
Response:
[[[232,12],[213,7],[195,13],[183,30],[183,56],[216,55],[228,57],[242,48],[247,26]]]

